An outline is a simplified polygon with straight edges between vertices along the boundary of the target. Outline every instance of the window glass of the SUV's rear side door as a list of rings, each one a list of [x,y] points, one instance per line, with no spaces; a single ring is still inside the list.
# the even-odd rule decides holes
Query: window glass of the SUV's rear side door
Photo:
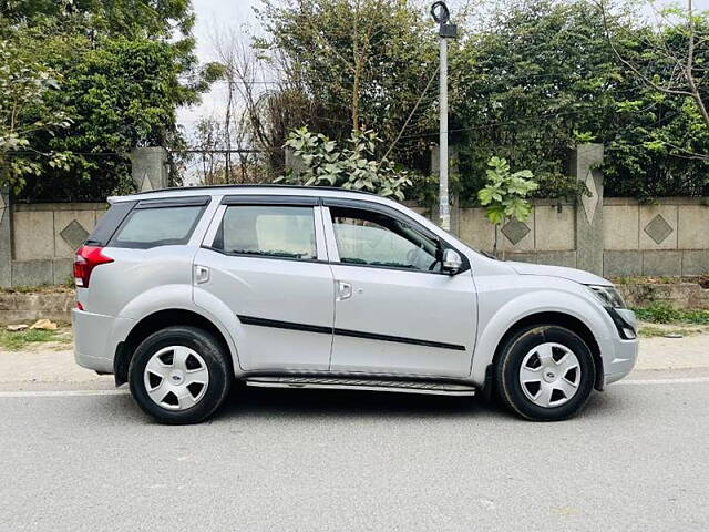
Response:
[[[315,259],[312,207],[229,206],[213,247],[235,255]]]

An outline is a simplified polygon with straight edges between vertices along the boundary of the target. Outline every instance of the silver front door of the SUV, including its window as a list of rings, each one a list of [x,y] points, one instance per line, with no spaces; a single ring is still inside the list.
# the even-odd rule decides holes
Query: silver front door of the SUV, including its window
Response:
[[[337,293],[331,371],[467,376],[476,327],[470,269],[442,273],[445,243],[403,213],[325,205]]]

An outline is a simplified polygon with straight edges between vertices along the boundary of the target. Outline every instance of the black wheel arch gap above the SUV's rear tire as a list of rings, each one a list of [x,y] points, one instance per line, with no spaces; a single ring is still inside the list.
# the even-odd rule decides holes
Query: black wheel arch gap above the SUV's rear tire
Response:
[[[125,340],[119,342],[113,358],[113,374],[116,386],[127,382],[131,358],[137,346],[153,332],[175,325],[198,327],[214,336],[224,352],[229,357],[228,364],[232,366],[232,371],[234,371],[236,352],[234,352],[225,332],[212,319],[194,310],[169,308],[145,316],[133,326]]]

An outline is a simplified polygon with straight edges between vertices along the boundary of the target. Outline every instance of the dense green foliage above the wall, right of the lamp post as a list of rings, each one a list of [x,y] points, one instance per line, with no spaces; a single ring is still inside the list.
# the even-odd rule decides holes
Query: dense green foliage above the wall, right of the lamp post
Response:
[[[604,24],[594,1],[505,2],[471,33],[451,59],[459,72],[451,130],[458,130],[461,147],[463,198],[474,198],[483,186],[493,154],[533,171],[537,196],[583,194],[585,187],[567,174],[567,153],[585,142],[606,146],[608,195],[709,193],[707,162],[691,156],[709,153],[692,99],[639,83],[616,54],[651,79],[666,79],[672,68],[667,49],[686,44],[681,19],[659,30],[629,11],[630,4],[620,4]],[[695,61],[706,69],[708,27],[697,13],[695,22]]]

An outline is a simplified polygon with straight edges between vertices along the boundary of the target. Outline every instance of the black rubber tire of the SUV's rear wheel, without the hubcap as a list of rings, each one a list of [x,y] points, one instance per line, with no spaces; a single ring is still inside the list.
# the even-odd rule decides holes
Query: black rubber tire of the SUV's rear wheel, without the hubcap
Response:
[[[147,362],[160,349],[185,346],[202,357],[208,370],[207,389],[202,399],[185,410],[169,410],[154,402],[147,393],[144,371]],[[135,350],[129,368],[131,393],[141,409],[160,423],[191,424],[209,418],[224,402],[233,380],[233,368],[219,342],[196,327],[167,327],[152,334]]]

